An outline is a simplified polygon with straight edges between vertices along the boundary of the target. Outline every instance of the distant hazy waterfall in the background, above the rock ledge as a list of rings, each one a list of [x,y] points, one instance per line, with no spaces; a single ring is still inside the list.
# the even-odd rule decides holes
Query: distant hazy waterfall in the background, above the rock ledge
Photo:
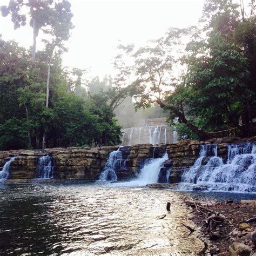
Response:
[[[173,143],[172,128],[166,125],[132,127],[123,130],[122,145]],[[175,141],[177,142],[177,136]]]

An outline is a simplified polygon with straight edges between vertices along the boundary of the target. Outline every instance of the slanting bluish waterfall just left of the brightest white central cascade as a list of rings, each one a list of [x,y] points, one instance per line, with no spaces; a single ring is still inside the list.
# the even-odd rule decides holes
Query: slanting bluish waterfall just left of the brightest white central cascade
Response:
[[[107,159],[106,165],[102,173],[100,173],[99,180],[100,181],[116,181],[117,180],[117,170],[127,169],[126,160],[123,159],[122,152],[120,151],[120,147],[118,150],[113,151],[109,155],[109,159]]]

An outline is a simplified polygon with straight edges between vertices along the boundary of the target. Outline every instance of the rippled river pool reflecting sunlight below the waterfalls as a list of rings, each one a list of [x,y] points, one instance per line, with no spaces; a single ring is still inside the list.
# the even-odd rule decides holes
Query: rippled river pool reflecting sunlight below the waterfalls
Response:
[[[0,253],[197,255],[204,244],[180,226],[193,227],[181,200],[202,195],[211,196],[111,184],[1,184]]]

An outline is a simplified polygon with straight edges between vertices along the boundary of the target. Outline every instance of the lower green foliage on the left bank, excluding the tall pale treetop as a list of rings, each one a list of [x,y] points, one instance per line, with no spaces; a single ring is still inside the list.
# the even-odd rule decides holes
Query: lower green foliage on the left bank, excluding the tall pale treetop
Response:
[[[106,104],[107,96],[90,98],[85,89],[85,97],[77,93],[79,76],[68,77],[57,54],[52,57],[46,108],[47,53],[38,51],[30,69],[28,50],[12,41],[0,43],[1,150],[41,148],[44,131],[49,147],[120,143],[120,126]],[[76,86],[67,90],[69,83]]]

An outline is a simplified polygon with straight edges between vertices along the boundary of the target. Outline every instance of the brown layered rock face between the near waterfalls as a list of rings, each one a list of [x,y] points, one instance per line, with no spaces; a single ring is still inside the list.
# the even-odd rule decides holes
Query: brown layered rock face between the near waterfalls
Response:
[[[256,137],[241,140],[212,139],[203,143],[218,144],[218,156],[227,158],[227,146],[231,143],[255,142]],[[167,151],[169,160],[165,162],[161,170],[159,182],[164,182],[167,169],[171,169],[170,183],[179,183],[181,176],[187,168],[194,164],[199,156],[200,143],[196,140],[183,140],[177,144],[139,144],[125,146],[120,149],[123,159],[126,159],[127,169],[120,169],[117,172],[118,180],[136,178],[145,160],[159,158]],[[33,179],[36,178],[38,159],[49,155],[54,164],[53,179],[65,180],[86,180],[95,181],[103,171],[109,154],[116,151],[118,146],[109,147],[68,147],[53,148],[45,150],[18,150],[0,151],[0,171],[10,157],[18,154],[18,157],[11,163],[9,179]]]

